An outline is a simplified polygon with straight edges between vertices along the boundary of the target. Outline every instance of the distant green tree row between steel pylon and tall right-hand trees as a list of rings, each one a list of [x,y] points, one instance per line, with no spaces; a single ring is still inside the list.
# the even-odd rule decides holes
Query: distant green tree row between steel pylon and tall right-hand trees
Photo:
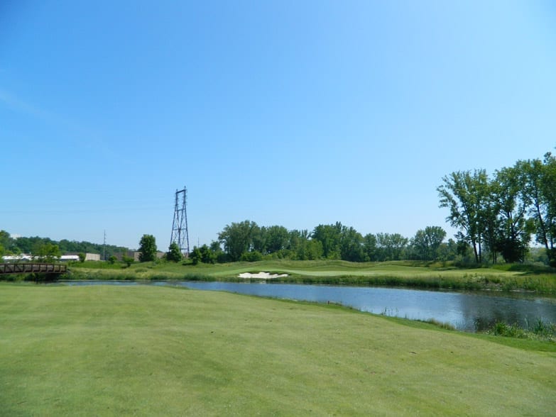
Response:
[[[347,260],[369,262],[387,260],[453,260],[454,240],[444,242],[440,226],[418,230],[413,238],[399,233],[362,235],[340,222],[320,224],[312,231],[288,230],[283,226],[258,226],[254,221],[231,223],[211,245],[194,248],[193,262],[236,262],[262,259]]]

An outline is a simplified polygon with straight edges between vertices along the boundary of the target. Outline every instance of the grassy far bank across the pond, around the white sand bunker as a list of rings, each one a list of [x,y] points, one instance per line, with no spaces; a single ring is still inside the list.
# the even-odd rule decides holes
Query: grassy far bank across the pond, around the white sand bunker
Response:
[[[456,268],[425,262],[261,261],[218,265],[182,265],[171,262],[97,267],[94,262],[74,265],[70,279],[187,279],[244,281],[241,272],[288,274],[279,282],[405,286],[426,289],[523,290],[556,294],[556,274],[532,267]],[[255,279],[253,279],[255,280]]]

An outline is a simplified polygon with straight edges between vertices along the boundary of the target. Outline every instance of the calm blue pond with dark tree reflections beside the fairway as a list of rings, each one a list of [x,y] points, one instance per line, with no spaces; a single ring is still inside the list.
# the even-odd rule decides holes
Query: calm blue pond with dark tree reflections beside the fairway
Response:
[[[75,281],[68,285],[137,285],[129,281]],[[556,297],[524,293],[425,291],[380,287],[278,284],[270,282],[152,282],[212,291],[267,296],[277,299],[335,303],[360,311],[449,323],[458,330],[485,330],[496,321],[518,323],[523,328],[539,319],[556,323]]]

